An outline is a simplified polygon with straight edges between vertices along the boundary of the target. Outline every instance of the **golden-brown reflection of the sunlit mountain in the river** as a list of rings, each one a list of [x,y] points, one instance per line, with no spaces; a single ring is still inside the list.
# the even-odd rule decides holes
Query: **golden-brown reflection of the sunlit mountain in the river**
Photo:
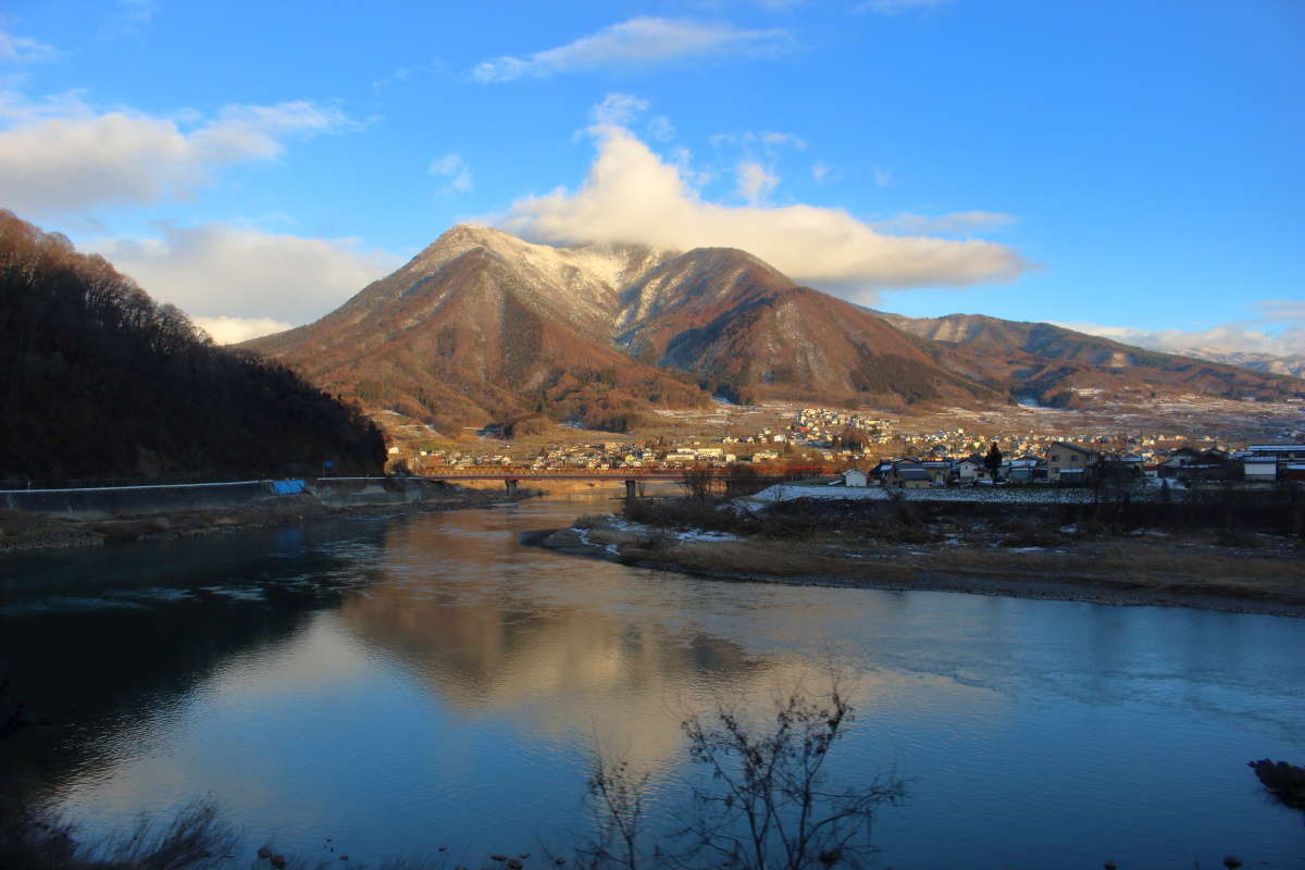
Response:
[[[553,558],[518,553],[542,570]],[[457,574],[414,582],[414,566],[435,558],[457,565]],[[805,660],[758,659],[731,640],[595,597],[603,571],[626,569],[572,560],[564,570],[514,578],[505,562],[479,536],[408,524],[389,539],[376,583],[348,596],[341,618],[467,716],[489,711],[523,732],[596,740],[647,766],[679,757],[680,723],[692,711],[720,700],[766,715],[773,687],[827,681]],[[466,570],[476,566],[484,574]],[[662,588],[668,613],[685,612],[676,583]]]

